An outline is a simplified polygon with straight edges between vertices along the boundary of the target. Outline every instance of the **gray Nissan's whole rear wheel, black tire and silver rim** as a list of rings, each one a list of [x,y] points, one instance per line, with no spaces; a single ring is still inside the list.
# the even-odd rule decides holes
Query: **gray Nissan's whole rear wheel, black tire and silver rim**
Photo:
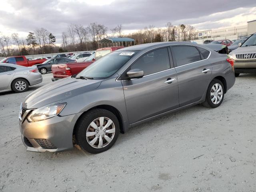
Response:
[[[216,87],[216,84],[218,85],[218,87]],[[217,92],[216,88],[217,90],[220,89],[220,91]],[[214,91],[214,89],[216,90],[216,92]],[[212,82],[210,82],[210,85],[208,86],[206,98],[205,98],[205,101],[203,102],[203,105],[208,108],[216,108],[220,106],[223,99],[224,99],[224,86],[222,82],[218,79],[212,80]]]

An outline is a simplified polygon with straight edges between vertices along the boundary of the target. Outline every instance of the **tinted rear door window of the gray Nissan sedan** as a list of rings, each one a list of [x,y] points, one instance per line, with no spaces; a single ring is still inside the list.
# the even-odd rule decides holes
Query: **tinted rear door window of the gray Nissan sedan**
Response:
[[[174,46],[172,47],[176,58],[177,67],[200,61],[200,53],[194,46]]]

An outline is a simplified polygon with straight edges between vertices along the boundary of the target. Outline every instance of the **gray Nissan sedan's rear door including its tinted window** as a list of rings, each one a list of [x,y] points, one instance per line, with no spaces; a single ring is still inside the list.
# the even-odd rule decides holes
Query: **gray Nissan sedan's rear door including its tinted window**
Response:
[[[183,45],[171,46],[171,50],[178,77],[180,107],[199,101],[212,73],[212,66],[207,60],[210,51]]]

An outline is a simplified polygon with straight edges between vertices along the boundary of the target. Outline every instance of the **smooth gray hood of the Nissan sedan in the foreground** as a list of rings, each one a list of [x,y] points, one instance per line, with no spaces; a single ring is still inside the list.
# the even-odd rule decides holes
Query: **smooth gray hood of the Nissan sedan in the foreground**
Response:
[[[54,81],[29,94],[22,102],[22,106],[26,109],[34,109],[53,102],[64,102],[68,98],[96,89],[101,81],[71,77]]]

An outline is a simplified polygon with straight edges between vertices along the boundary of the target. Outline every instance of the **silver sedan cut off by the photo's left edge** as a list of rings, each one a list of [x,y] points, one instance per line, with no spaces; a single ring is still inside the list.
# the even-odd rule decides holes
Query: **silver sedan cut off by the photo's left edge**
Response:
[[[0,63],[0,92],[20,93],[28,90],[28,86],[41,83],[42,75],[38,68],[24,67],[15,64]]]

